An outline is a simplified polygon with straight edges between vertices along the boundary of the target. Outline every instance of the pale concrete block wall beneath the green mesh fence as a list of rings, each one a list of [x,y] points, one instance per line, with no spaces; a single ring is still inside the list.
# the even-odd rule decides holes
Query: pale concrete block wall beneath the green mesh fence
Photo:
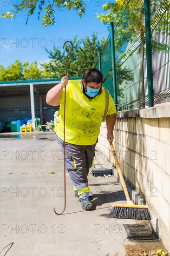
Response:
[[[103,122],[97,148],[114,164]],[[151,225],[170,250],[170,103],[117,113],[114,148],[124,176],[149,205]]]

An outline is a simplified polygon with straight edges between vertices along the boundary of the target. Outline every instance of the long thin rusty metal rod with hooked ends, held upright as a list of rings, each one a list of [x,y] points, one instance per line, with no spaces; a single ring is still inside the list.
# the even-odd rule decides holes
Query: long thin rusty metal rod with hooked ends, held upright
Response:
[[[70,52],[67,54],[67,57],[66,57],[66,64],[65,64],[65,75],[67,75],[67,60],[68,60],[68,55],[71,53],[72,49],[73,49],[73,44],[71,41],[66,41],[63,45],[63,48],[65,47],[65,44],[66,43],[71,43],[72,45],[72,48],[70,50]],[[65,99],[66,99],[66,86],[65,86],[65,94],[64,94],[64,139],[63,139],[63,149],[64,149],[64,192],[66,191],[66,186],[65,186]],[[54,213],[57,214],[57,215],[62,215],[65,211],[65,206],[66,206],[66,192],[65,192],[65,204],[64,204],[64,209],[62,211],[62,213],[57,213],[55,208],[53,208],[54,210]]]

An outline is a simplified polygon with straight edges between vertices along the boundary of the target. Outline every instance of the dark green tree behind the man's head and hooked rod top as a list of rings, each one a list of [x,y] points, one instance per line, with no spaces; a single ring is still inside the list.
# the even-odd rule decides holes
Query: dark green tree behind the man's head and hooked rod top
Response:
[[[86,36],[85,39],[73,40],[73,50],[69,55],[67,62],[67,73],[70,77],[82,76],[86,69],[94,67],[98,61],[98,52],[101,51],[101,42],[97,39],[96,34],[91,38]],[[65,49],[58,49],[55,46],[52,50],[47,50],[51,61],[42,64],[42,72],[45,78],[60,78],[65,75],[66,55],[70,51],[71,45],[65,44]],[[49,77],[50,75],[50,77]]]

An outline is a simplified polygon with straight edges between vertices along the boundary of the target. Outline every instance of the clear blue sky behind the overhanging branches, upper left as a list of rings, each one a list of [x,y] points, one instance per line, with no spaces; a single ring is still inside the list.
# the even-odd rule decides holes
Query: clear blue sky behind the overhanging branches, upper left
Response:
[[[6,13],[12,10],[12,4],[20,0],[1,0],[0,12]],[[52,49],[53,45],[62,47],[65,40],[73,40],[91,36],[98,33],[98,40],[107,38],[107,27],[98,22],[96,13],[105,13],[102,5],[109,1],[90,0],[85,1],[85,15],[80,19],[75,11],[66,11],[64,8],[55,10],[56,25],[42,27],[41,17],[38,20],[38,9],[29,17],[26,25],[27,11],[17,14],[11,21],[0,18],[0,64],[7,67],[15,60],[22,63],[37,61],[43,63],[49,61],[45,48]],[[41,13],[42,16],[43,13]]]

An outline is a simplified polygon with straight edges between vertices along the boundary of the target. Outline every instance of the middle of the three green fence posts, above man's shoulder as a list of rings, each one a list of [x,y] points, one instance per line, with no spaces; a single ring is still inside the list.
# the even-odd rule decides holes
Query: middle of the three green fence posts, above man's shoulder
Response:
[[[114,41],[113,22],[111,22],[111,62],[112,62],[112,75],[113,75],[113,99],[114,99],[116,110],[118,110],[117,85],[116,85],[115,41]]]

